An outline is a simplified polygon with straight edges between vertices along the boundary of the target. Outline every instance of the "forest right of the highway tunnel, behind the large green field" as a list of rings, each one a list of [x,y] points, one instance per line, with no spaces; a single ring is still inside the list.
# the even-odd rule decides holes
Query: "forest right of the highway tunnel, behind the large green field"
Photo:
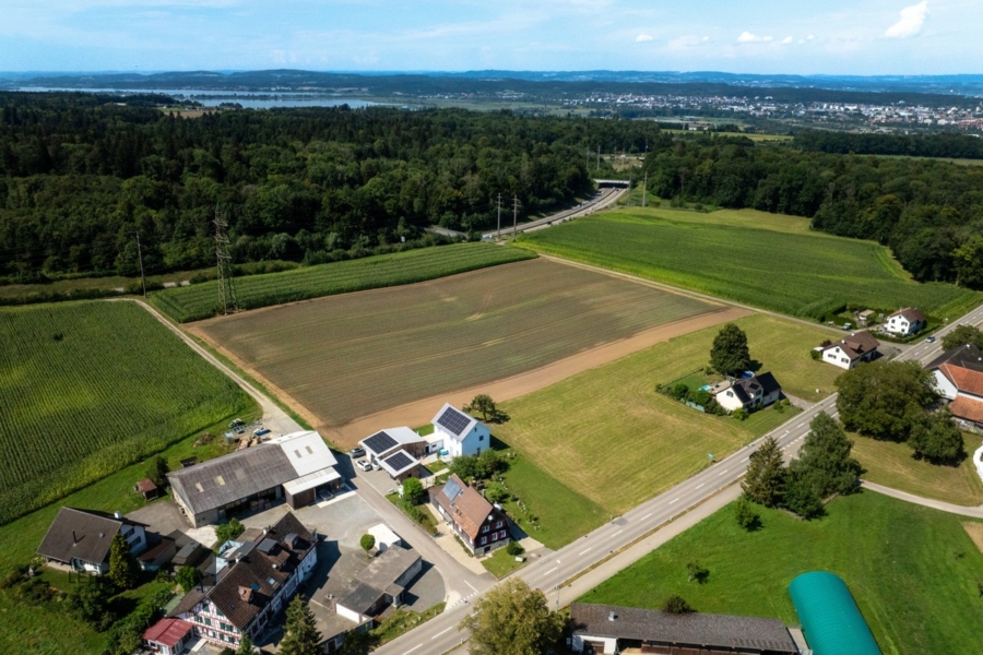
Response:
[[[712,136],[661,142],[646,168],[662,198],[807,216],[889,246],[915,279],[983,288],[983,168]]]

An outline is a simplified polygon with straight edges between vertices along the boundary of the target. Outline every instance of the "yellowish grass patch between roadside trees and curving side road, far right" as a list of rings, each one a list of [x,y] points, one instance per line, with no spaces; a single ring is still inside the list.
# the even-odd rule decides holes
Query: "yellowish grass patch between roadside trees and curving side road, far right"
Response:
[[[851,434],[851,439],[853,455],[867,469],[863,476],[866,480],[955,504],[983,504],[983,480],[972,461],[973,451],[980,448],[980,437],[963,434],[969,456],[959,466],[935,466],[915,460],[907,443],[876,441],[857,434]]]

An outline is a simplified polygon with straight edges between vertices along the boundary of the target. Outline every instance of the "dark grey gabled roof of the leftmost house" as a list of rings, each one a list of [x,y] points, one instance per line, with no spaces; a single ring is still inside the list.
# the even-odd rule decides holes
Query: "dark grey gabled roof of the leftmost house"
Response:
[[[134,524],[112,514],[61,508],[37,547],[37,553],[60,562],[70,562],[75,558],[102,563],[109,556],[112,537],[125,523]]]

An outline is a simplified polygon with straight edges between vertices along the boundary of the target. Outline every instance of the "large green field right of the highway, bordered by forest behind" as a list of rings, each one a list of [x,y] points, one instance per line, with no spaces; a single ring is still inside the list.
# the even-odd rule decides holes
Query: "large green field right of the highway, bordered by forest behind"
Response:
[[[944,319],[983,301],[983,294],[954,285],[912,282],[873,241],[808,231],[808,219],[754,211],[630,207],[522,235],[520,243],[809,319],[848,302],[913,306]]]

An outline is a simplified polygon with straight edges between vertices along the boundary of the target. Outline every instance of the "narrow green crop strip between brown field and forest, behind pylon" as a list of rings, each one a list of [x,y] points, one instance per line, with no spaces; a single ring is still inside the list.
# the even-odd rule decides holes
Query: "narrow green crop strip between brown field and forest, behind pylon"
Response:
[[[492,243],[458,243],[423,248],[393,254],[304,266],[282,273],[238,277],[236,297],[239,309],[257,309],[296,300],[307,300],[375,289],[465,271],[475,271],[530,259],[529,251],[501,248]],[[179,323],[208,319],[218,313],[218,287],[205,282],[189,287],[151,294],[151,302]]]

